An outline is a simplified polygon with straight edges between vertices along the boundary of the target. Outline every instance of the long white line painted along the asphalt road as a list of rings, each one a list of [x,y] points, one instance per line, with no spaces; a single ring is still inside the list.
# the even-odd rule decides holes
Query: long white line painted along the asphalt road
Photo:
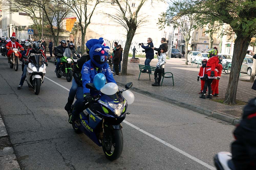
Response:
[[[53,83],[59,85],[60,87],[62,87],[62,88],[64,88],[64,89],[66,89],[66,90],[69,91],[68,88],[66,88],[66,87],[60,85],[59,83],[57,83],[57,82],[55,82],[55,81],[49,79],[48,77],[45,77],[45,78],[48,79],[48,80],[50,80],[51,82],[53,82]],[[127,124],[127,125],[133,127],[134,129],[136,129],[136,130],[138,130],[138,131],[144,133],[145,135],[150,136],[150,137],[152,137],[153,139],[155,139],[155,140],[157,140],[157,141],[163,143],[164,145],[168,146],[169,148],[172,148],[173,150],[175,150],[175,151],[177,151],[177,152],[183,154],[184,156],[186,156],[186,157],[192,159],[193,161],[195,161],[195,162],[197,162],[197,163],[199,163],[199,164],[201,164],[201,165],[203,165],[203,166],[205,166],[205,167],[207,167],[207,168],[209,168],[209,169],[211,169],[211,170],[216,170],[215,167],[213,167],[213,166],[211,166],[211,165],[209,165],[209,164],[207,164],[207,163],[201,161],[200,159],[197,159],[196,157],[194,157],[194,156],[188,154],[187,152],[185,152],[185,151],[183,151],[183,150],[180,150],[179,148],[176,148],[175,146],[171,145],[170,143],[167,143],[167,142],[165,142],[164,140],[159,139],[158,137],[156,137],[156,136],[154,136],[154,135],[152,135],[152,134],[146,132],[145,130],[142,130],[141,128],[139,128],[139,127],[137,127],[137,126],[135,126],[135,125],[133,125],[133,124],[131,124],[131,123],[125,121],[125,120],[123,120],[123,122],[124,122],[125,124]]]

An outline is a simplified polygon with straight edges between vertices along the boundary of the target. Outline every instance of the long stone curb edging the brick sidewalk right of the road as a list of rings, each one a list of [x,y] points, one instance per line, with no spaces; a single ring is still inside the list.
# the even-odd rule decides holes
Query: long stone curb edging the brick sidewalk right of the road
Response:
[[[121,82],[118,82],[118,81],[116,81],[116,83],[119,86],[125,87],[125,83],[121,83]],[[179,100],[176,100],[174,98],[170,98],[170,97],[166,97],[166,96],[159,96],[158,94],[155,94],[151,91],[142,90],[138,87],[133,87],[132,86],[130,89],[133,90],[133,91],[136,91],[138,93],[148,95],[150,97],[153,97],[153,98],[156,98],[156,99],[159,99],[159,100],[163,100],[165,102],[176,104],[180,107],[183,107],[183,108],[186,108],[186,109],[189,109],[189,110],[201,113],[201,114],[205,114],[209,117],[214,117],[216,119],[228,122],[228,123],[230,123],[234,126],[239,124],[240,121],[241,121],[240,119],[237,119],[236,117],[232,117],[232,116],[229,116],[229,115],[226,115],[226,114],[222,114],[220,112],[216,112],[216,111],[213,111],[213,110],[204,109],[200,106],[196,106],[194,104],[190,104],[190,103],[187,103],[187,102],[184,102],[184,101],[179,101]]]

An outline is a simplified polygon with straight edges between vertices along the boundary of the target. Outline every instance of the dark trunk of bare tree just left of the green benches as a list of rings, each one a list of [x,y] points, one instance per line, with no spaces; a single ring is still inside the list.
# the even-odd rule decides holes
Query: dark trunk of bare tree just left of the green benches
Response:
[[[129,50],[132,44],[132,39],[135,34],[136,29],[129,29],[127,32],[127,37],[126,37],[126,43],[124,47],[124,57],[123,57],[123,65],[122,65],[122,75],[127,75],[127,63],[128,63],[128,55],[129,55]]]

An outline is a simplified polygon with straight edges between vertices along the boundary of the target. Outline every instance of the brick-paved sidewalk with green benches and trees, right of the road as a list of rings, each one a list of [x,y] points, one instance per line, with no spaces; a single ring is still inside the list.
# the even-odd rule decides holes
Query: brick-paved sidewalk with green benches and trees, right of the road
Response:
[[[180,107],[215,117],[233,125],[240,122],[244,106],[229,106],[210,99],[199,98],[198,92],[200,91],[201,84],[200,81],[197,82],[197,75],[201,65],[197,68],[197,64],[193,64],[191,67],[189,62],[189,65],[186,66],[185,58],[168,59],[165,64],[165,72],[173,73],[174,86],[170,78],[164,79],[163,86],[151,86],[154,83],[153,75],[151,75],[151,80],[149,80],[147,73],[141,73],[140,80],[138,80],[140,74],[138,64],[144,65],[145,58],[140,58],[140,63],[130,63],[129,61],[130,57],[127,64],[127,74],[129,75],[123,76],[119,74],[119,76],[114,77],[119,86],[124,87],[126,83],[133,82],[131,90],[139,93],[177,104]],[[151,66],[155,66],[157,61],[157,59],[152,59]],[[229,74],[223,72],[219,81],[219,97],[213,97],[214,99],[225,98],[228,80]],[[251,89],[253,83],[248,82],[250,77],[247,74],[241,73],[239,80],[236,99],[248,102],[255,97],[255,91]]]

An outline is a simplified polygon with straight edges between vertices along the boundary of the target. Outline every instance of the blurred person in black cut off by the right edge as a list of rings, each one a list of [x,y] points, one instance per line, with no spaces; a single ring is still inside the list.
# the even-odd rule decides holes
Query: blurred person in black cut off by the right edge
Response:
[[[256,169],[256,98],[243,109],[243,119],[234,130],[231,145],[232,161],[236,170]]]

